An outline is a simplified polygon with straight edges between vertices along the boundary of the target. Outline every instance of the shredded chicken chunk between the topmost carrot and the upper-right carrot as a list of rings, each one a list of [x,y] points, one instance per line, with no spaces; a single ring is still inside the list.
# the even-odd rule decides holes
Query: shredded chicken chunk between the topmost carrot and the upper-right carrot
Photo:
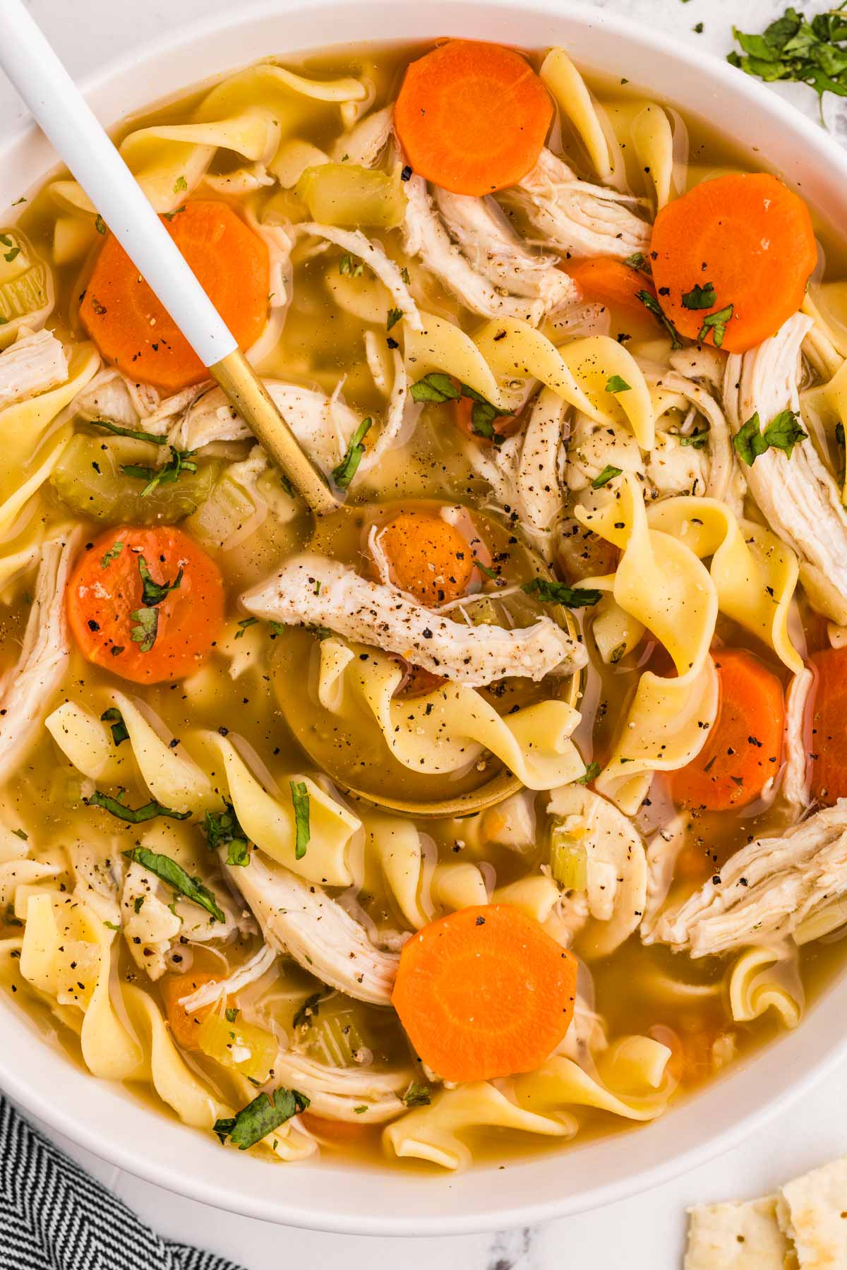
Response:
[[[650,226],[625,206],[635,199],[579,180],[550,150],[542,150],[532,171],[500,198],[530,221],[544,246],[563,255],[624,260],[650,246]]]

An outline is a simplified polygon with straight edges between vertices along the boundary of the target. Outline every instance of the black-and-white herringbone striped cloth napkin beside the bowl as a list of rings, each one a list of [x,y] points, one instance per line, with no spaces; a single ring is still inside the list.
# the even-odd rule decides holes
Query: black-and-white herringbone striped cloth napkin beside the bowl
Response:
[[[3,1270],[239,1270],[163,1240],[0,1097]]]

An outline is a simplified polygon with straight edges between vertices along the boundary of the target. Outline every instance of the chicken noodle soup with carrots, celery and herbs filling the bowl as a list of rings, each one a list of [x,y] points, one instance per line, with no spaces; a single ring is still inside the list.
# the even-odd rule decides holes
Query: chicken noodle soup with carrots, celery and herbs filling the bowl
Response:
[[[119,144],[347,507],[67,174],[8,212],[15,1001],[222,1149],[442,1170],[800,1024],[847,922],[847,302],[797,193],[451,39]]]

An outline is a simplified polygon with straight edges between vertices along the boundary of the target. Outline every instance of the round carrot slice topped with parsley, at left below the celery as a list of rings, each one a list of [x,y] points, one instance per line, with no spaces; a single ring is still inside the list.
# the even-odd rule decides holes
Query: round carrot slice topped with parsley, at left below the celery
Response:
[[[157,602],[154,584],[171,589]],[[177,585],[178,583],[178,585]],[[133,683],[192,674],[223,622],[223,583],[213,560],[182,530],[107,530],[76,563],[67,621],[80,653]]]

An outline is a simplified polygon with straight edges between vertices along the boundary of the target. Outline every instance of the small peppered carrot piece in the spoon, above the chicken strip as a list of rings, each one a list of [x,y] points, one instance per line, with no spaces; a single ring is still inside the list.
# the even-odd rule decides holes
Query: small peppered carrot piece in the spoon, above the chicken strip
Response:
[[[422,605],[442,605],[467,591],[474,551],[456,526],[441,516],[401,512],[389,521],[380,545],[396,585]]]

